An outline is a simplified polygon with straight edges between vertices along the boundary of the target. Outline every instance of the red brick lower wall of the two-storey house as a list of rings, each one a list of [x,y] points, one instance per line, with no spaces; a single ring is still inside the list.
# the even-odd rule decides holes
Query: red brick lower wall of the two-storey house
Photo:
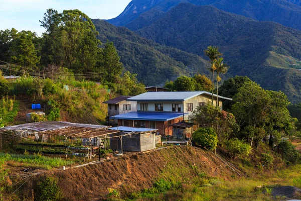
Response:
[[[174,124],[181,122],[183,117],[171,120],[171,121],[156,121],[156,129],[162,136],[173,135],[173,127],[169,126],[169,124]],[[145,127],[149,128],[150,121],[145,121]],[[122,120],[118,120],[118,126],[122,126]]]

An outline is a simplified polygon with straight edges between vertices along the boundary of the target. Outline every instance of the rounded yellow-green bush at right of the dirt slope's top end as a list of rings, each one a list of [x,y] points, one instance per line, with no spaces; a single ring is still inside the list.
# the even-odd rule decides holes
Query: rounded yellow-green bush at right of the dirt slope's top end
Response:
[[[248,156],[251,146],[237,138],[225,141],[226,150],[232,158]]]

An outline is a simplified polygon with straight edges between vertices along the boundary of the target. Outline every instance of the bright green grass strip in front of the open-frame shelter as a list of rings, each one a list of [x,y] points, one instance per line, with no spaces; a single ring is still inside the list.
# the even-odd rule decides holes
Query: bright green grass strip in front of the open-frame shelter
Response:
[[[0,159],[8,156],[7,163],[11,166],[51,169],[54,167],[67,166],[74,163],[72,160],[53,158],[41,155],[5,154],[0,153]]]

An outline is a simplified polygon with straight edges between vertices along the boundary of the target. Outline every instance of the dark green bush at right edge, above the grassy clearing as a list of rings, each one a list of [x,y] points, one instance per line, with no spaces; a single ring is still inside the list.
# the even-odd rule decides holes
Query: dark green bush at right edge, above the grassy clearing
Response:
[[[280,141],[277,146],[277,151],[283,156],[286,163],[297,163],[300,161],[301,154],[295,150],[295,146],[286,139]]]

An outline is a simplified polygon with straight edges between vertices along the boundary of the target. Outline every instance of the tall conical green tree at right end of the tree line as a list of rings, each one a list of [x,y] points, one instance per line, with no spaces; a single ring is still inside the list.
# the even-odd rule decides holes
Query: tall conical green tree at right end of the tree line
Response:
[[[113,42],[107,41],[102,51],[101,69],[104,81],[115,83],[120,76],[123,64],[120,62],[117,50]]]

